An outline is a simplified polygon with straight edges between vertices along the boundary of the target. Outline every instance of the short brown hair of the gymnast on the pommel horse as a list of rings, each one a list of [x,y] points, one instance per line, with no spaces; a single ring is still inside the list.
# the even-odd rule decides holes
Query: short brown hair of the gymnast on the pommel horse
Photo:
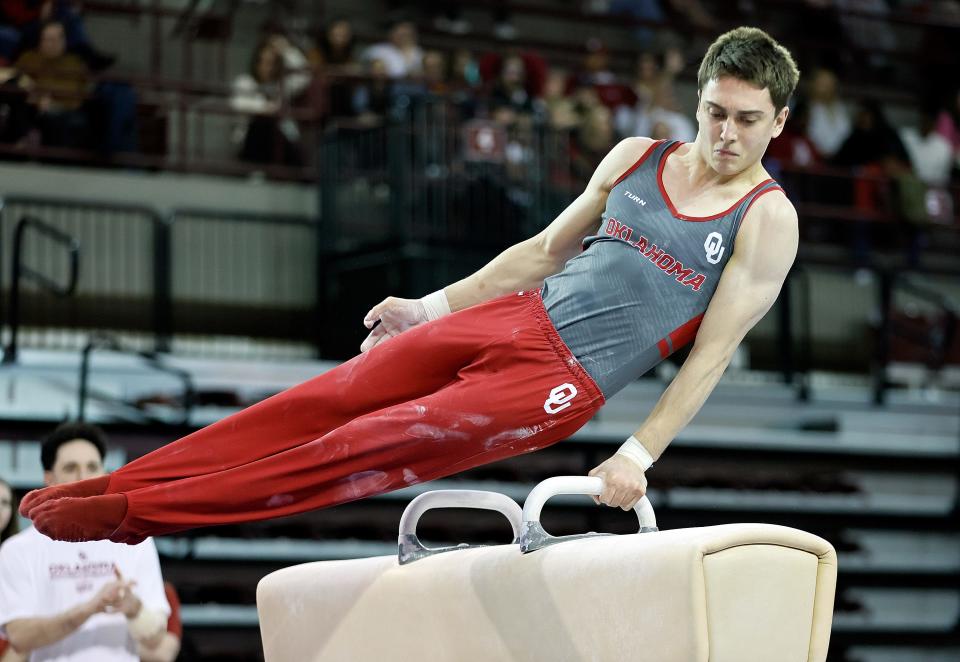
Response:
[[[773,37],[758,28],[740,27],[720,35],[707,49],[697,73],[697,90],[721,76],[766,88],[779,111],[796,89],[800,70],[790,51]]]

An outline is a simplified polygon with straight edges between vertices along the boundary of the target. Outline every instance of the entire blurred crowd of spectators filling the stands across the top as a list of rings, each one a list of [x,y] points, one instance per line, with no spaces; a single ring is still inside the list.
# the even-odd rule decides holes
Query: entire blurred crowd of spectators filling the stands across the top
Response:
[[[570,64],[575,57],[561,66],[525,46],[538,43],[538,35],[525,35],[514,25],[509,2],[489,4],[490,20],[483,29],[450,3],[417,3],[413,13],[411,3],[385,4],[385,15],[395,18],[383,25],[381,37],[368,36],[362,44],[346,17],[306,32],[288,29],[282,20],[262,27],[247,70],[232,83],[229,105],[237,117],[233,139],[239,159],[302,166],[313,158],[315,143],[305,134],[314,128],[373,128],[417,104],[440,100],[455,109],[456,121],[464,126],[479,121],[502,132],[490,144],[508,163],[522,165],[530,145],[524,135],[532,130],[567,136],[568,174],[582,181],[624,136],[693,140],[695,102],[681,102],[677,81],[689,97],[696,72],[688,56],[699,48],[698,36],[714,35],[731,20],[747,20],[762,9],[748,0],[730,8],[703,0],[584,0],[581,11],[623,16],[633,26],[628,29],[635,51],[617,51],[614,67],[607,45],[586,35],[575,44],[582,53],[575,65]],[[899,47],[897,32],[877,19],[897,10],[956,22],[960,2],[803,0],[797,7],[790,14],[795,25],[769,26],[778,38],[789,44],[790,34],[816,29],[834,43],[853,47],[801,57],[801,89],[791,102],[787,130],[770,147],[770,167],[853,168],[867,179],[899,178],[906,182],[904,191],[914,180],[918,190],[955,183],[960,79],[951,75],[951,67],[931,66],[927,73],[934,83],[911,90],[919,120],[899,124],[862,91],[848,96],[843,72],[867,67],[893,76],[900,67],[902,73],[903,63],[890,55]],[[476,19],[476,14],[470,16]],[[434,43],[448,46],[421,45],[418,28],[429,29],[441,37]],[[449,46],[457,43],[449,36],[466,35],[487,41],[465,44],[496,39],[499,46],[486,51]],[[952,47],[930,46],[944,53]],[[625,66],[628,59],[632,65]],[[135,151],[134,91],[97,75],[112,63],[112,56],[91,44],[75,3],[0,0],[0,145]],[[855,201],[868,205],[873,193],[864,185]]]

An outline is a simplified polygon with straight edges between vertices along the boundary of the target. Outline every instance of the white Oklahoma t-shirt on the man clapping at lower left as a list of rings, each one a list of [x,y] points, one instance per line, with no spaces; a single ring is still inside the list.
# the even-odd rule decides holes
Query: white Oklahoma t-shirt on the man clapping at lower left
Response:
[[[165,616],[160,560],[153,539],[139,545],[106,540],[60,542],[30,527],[0,547],[0,632],[20,618],[49,617],[92,598],[116,578],[135,580],[144,605]],[[30,654],[30,662],[138,662],[137,644],[123,614],[94,614],[80,629]]]

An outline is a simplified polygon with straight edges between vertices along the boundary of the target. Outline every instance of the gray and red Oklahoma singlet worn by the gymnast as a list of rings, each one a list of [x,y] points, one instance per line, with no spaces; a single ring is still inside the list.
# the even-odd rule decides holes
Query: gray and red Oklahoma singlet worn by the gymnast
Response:
[[[543,284],[550,320],[607,398],[693,340],[747,210],[780,190],[768,179],[720,214],[680,214],[662,176],[681,144],[654,143],[617,180],[597,234]]]

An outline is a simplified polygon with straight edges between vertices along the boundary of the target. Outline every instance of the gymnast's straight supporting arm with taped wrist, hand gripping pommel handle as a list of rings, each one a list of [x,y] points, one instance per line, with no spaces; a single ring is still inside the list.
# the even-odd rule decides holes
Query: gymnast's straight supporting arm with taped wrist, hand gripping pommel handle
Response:
[[[600,503],[633,508],[646,493],[646,470],[696,415],[747,332],[762,318],[797,255],[797,212],[781,192],[756,200],[707,307],[690,355],[646,421],[591,472],[604,479]]]

